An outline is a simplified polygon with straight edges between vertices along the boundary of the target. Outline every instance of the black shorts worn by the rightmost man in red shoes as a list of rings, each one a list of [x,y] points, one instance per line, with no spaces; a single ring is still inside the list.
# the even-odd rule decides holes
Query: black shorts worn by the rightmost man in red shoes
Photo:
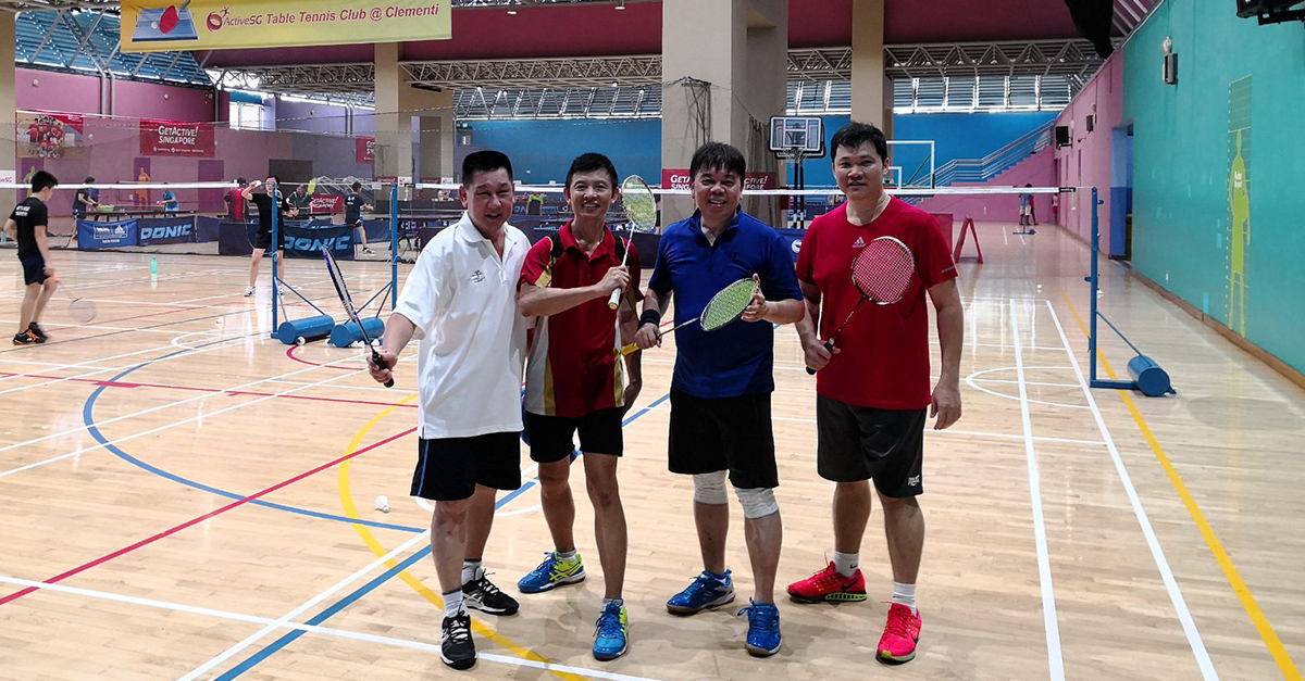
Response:
[[[877,410],[816,395],[816,470],[835,483],[874,480],[886,497],[924,493],[928,410]]]

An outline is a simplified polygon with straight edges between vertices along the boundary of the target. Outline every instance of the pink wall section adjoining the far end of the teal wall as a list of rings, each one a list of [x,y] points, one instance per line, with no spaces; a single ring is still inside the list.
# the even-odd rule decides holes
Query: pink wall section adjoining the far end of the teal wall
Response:
[[[1087,117],[1096,116],[1092,132]],[[1056,125],[1070,127],[1070,146],[1056,150],[1061,187],[1082,188],[1065,194],[1060,223],[1083,239],[1092,237],[1091,190],[1096,187],[1101,227],[1101,245],[1111,243],[1111,130],[1124,125],[1124,51],[1117,50],[1101,70],[1056,119]],[[1041,214],[1041,211],[1039,211]]]

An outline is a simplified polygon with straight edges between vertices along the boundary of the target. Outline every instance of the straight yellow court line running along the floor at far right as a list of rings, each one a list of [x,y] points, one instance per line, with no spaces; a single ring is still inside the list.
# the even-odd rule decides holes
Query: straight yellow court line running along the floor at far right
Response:
[[[1083,335],[1087,335],[1087,325],[1083,324],[1083,318],[1078,316],[1078,310],[1074,309],[1074,304],[1070,303],[1069,296],[1065,295],[1065,290],[1060,291],[1061,297],[1065,304],[1069,305],[1069,310],[1074,314],[1074,321],[1078,322],[1078,327],[1083,330]],[[1114,369],[1111,368],[1111,363],[1105,361],[1105,355],[1101,352],[1100,346],[1096,348],[1096,356],[1105,368],[1107,376],[1111,380],[1118,380]],[[1283,677],[1288,681],[1305,681],[1301,672],[1296,668],[1296,663],[1292,661],[1292,656],[1287,652],[1283,642],[1278,638],[1274,631],[1274,626],[1268,624],[1268,617],[1265,617],[1263,611],[1259,609],[1259,604],[1255,603],[1255,596],[1251,595],[1250,587],[1242,581],[1241,574],[1237,573],[1237,566],[1232,564],[1232,558],[1228,552],[1224,551],[1223,543],[1219,541],[1219,536],[1215,535],[1212,527],[1206,521],[1205,513],[1201,511],[1201,506],[1197,505],[1197,500],[1191,497],[1191,492],[1188,491],[1188,485],[1182,483],[1182,477],[1178,475],[1177,468],[1165,455],[1164,449],[1160,447],[1160,442],[1156,441],[1155,433],[1151,432],[1151,427],[1147,425],[1146,419],[1138,411],[1137,404],[1126,390],[1117,391],[1121,398],[1124,398],[1124,404],[1133,414],[1133,420],[1138,424],[1138,429],[1142,431],[1142,437],[1146,438],[1147,444],[1151,445],[1151,451],[1155,453],[1155,458],[1160,461],[1160,467],[1164,468],[1165,475],[1169,476],[1169,483],[1173,484],[1173,489],[1178,492],[1178,498],[1182,500],[1182,505],[1186,506],[1188,514],[1191,515],[1193,522],[1197,523],[1197,530],[1201,531],[1201,536],[1206,539],[1206,544],[1210,547],[1210,552],[1214,553],[1215,560],[1219,562],[1219,568],[1223,569],[1224,577],[1228,578],[1228,583],[1232,586],[1237,599],[1241,600],[1241,607],[1246,609],[1246,614],[1250,616],[1251,624],[1255,625],[1255,630],[1259,631],[1259,638],[1265,641],[1265,646],[1268,647],[1270,655],[1274,656],[1274,661],[1278,663],[1278,668],[1283,672]],[[346,462],[347,463],[347,462]]]

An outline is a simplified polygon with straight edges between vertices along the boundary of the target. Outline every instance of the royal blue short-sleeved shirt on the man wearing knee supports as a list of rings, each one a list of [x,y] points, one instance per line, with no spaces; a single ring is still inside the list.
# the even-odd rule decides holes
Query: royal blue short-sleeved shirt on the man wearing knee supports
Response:
[[[702,313],[711,296],[739,279],[761,275],[766,300],[801,300],[788,244],[769,224],[743,211],[709,244],[702,215],[667,227],[649,288],[673,292],[675,324]],[[671,385],[698,398],[729,398],[775,390],[775,331],[769,322],[736,321],[715,331],[690,324],[675,331]]]

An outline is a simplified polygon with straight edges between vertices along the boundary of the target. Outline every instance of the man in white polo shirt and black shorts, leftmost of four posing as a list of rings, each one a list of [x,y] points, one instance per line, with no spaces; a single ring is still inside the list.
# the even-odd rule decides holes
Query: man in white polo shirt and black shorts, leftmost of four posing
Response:
[[[458,198],[467,211],[422,249],[378,350],[390,378],[416,337],[422,398],[412,496],[435,501],[431,549],[444,624],[440,658],[454,669],[476,661],[466,608],[514,614],[517,601],[485,578],[480,560],[495,496],[521,487],[521,378],[527,320],[517,314],[517,279],[530,249],[508,224],[512,162],[476,151],[462,163]]]

